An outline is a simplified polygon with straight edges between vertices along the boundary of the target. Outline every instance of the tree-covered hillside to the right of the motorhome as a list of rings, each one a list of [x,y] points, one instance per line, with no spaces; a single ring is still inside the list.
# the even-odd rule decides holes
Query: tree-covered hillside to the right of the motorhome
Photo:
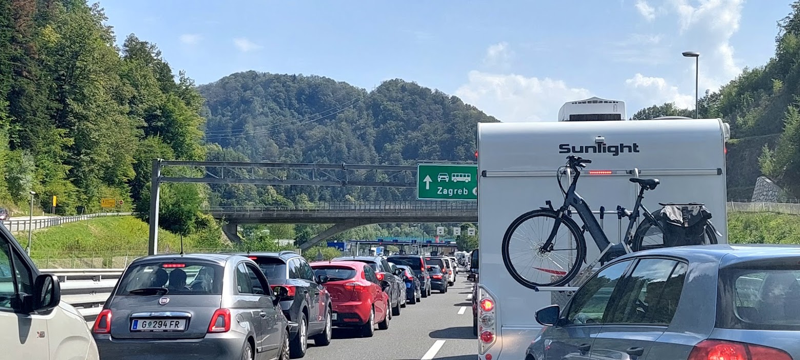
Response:
[[[702,71],[702,67],[701,67]],[[775,55],[700,99],[700,117],[730,124],[728,197],[750,199],[758,176],[766,175],[800,198],[800,1],[778,22]],[[665,104],[643,109],[634,118],[663,115],[694,117],[694,111]]]

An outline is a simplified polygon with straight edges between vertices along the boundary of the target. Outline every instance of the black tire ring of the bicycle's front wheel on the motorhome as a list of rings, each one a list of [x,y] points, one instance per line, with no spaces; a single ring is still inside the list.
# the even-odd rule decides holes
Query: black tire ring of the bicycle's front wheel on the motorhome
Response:
[[[570,234],[575,239],[576,250],[578,251],[578,255],[575,256],[574,263],[569,267],[566,271],[566,274],[563,275],[561,279],[556,279],[551,281],[550,283],[535,283],[526,279],[522,275],[519,274],[517,269],[514,268],[514,265],[511,263],[511,254],[510,254],[510,243],[511,237],[514,235],[514,231],[517,230],[520,225],[525,223],[527,220],[531,220],[537,217],[547,217],[550,219],[556,219],[556,212],[549,210],[549,209],[538,209],[532,212],[526,212],[522,214],[513,222],[511,222],[510,226],[506,230],[506,235],[503,235],[502,239],[502,262],[506,265],[506,270],[509,272],[511,277],[517,281],[517,283],[522,284],[522,286],[536,289],[537,287],[558,287],[562,285],[566,285],[570,283],[572,279],[574,279],[575,275],[578,275],[578,272],[581,271],[580,264],[586,260],[586,239],[583,237],[583,232],[581,231],[578,224],[575,224],[575,220],[570,219],[570,217],[563,216],[561,224],[562,226],[566,226],[566,229],[570,232]],[[547,234],[549,235],[549,233]],[[541,239],[542,242],[546,241],[546,239]],[[552,276],[551,276],[552,278]]]

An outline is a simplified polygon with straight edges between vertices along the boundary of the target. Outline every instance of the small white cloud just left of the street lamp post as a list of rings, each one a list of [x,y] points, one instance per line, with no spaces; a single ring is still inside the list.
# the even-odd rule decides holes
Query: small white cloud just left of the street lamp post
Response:
[[[630,97],[637,97],[643,104],[661,105],[674,102],[679,108],[694,109],[694,94],[682,94],[678,86],[669,85],[663,77],[646,77],[637,73],[625,81]]]

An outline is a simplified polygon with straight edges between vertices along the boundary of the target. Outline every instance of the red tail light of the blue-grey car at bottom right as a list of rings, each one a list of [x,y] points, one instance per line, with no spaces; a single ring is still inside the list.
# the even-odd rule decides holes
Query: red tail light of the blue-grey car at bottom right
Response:
[[[729,342],[724,340],[703,340],[694,346],[689,360],[792,360],[790,354],[774,347]]]

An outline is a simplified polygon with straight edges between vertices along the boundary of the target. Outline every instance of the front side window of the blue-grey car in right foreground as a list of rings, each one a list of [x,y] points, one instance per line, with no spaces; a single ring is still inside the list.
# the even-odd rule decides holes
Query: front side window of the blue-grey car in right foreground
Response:
[[[619,278],[625,274],[632,260],[615,263],[599,271],[573,295],[567,320],[570,324],[602,322],[603,313],[611,299],[611,293]]]

